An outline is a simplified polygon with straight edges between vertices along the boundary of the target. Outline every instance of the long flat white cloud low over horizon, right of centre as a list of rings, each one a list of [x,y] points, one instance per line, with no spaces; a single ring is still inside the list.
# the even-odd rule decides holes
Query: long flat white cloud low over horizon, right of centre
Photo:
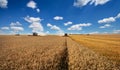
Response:
[[[68,28],[68,30],[82,30],[82,27],[91,26],[91,23],[75,24]]]

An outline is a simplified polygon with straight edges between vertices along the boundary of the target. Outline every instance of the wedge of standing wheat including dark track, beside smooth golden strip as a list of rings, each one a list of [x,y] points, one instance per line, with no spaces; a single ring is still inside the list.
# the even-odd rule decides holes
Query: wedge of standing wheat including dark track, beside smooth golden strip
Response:
[[[60,70],[119,70],[119,66],[83,47],[69,37],[65,37]]]

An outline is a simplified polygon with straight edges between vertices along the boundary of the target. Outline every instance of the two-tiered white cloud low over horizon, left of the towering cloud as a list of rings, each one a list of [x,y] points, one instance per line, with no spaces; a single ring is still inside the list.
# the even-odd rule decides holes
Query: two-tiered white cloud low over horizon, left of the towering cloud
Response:
[[[12,30],[12,32],[17,33],[20,31],[24,31],[24,28],[22,27],[22,24],[20,22],[12,22],[10,24],[10,29]]]

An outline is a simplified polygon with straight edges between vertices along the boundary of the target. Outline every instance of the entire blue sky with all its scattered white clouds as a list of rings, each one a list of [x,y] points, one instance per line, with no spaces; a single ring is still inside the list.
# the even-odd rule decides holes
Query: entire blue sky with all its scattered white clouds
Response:
[[[120,0],[0,0],[0,34],[120,34]]]

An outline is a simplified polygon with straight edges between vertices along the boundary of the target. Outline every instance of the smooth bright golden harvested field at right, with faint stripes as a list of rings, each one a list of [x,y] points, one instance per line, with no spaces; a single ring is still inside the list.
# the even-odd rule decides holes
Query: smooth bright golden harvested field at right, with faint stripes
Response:
[[[120,35],[71,35],[73,40],[120,64]]]

